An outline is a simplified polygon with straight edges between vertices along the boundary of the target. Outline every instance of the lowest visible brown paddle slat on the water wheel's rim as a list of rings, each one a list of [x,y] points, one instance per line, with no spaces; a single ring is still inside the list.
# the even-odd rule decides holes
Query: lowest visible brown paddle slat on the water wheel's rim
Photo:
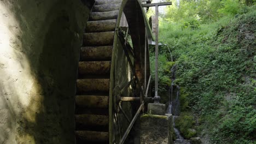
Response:
[[[88,140],[92,142],[108,142],[108,133],[102,131],[75,131],[75,135],[77,135],[82,140]]]

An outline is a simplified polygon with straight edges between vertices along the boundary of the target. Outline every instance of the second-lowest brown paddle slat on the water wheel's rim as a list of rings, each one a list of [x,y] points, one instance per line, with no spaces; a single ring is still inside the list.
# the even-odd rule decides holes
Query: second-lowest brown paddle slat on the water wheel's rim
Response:
[[[108,116],[102,115],[75,115],[75,123],[79,125],[106,126],[108,125]]]

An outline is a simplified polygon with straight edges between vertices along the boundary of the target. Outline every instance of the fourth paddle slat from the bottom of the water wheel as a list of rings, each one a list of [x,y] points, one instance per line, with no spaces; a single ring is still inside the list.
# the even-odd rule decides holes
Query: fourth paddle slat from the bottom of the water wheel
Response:
[[[78,79],[77,92],[109,92],[109,79]]]

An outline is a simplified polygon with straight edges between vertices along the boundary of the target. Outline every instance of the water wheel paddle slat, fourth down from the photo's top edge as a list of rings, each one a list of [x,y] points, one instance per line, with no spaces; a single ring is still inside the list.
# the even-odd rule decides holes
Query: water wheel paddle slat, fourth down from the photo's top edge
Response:
[[[85,32],[107,32],[114,31],[117,20],[88,21]]]

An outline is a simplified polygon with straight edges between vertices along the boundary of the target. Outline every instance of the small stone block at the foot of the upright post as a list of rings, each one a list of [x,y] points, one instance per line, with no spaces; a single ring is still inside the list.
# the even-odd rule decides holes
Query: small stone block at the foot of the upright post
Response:
[[[148,114],[150,115],[165,115],[166,106],[165,104],[159,103],[149,103],[148,104]]]

